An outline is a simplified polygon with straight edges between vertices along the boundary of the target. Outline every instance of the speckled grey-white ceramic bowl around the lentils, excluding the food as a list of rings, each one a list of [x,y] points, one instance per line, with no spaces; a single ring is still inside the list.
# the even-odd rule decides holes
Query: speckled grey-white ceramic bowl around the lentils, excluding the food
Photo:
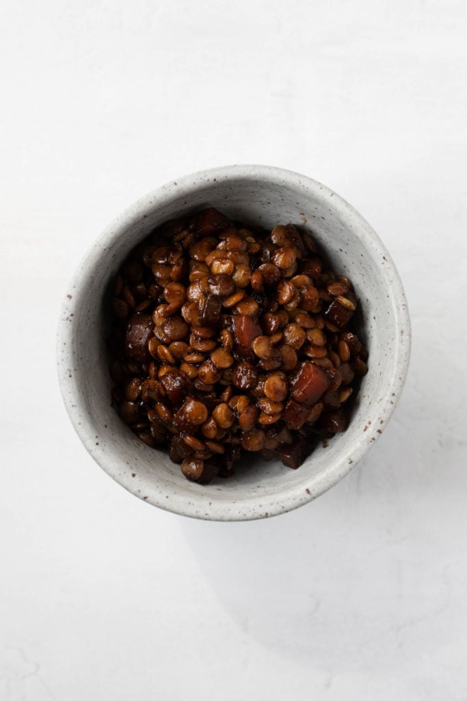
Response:
[[[318,447],[298,469],[258,461],[208,486],[188,482],[179,465],[146,447],[111,407],[104,292],[132,247],[162,222],[203,207],[271,228],[293,222],[312,231],[337,273],[349,275],[361,302],[369,372],[349,428]],[[58,366],[71,421],[92,457],[135,496],[201,519],[272,516],[323,494],[377,440],[398,401],[410,356],[410,320],[400,278],[375,231],[319,182],[263,165],[232,165],[188,175],[123,212],[79,266],[62,309]]]

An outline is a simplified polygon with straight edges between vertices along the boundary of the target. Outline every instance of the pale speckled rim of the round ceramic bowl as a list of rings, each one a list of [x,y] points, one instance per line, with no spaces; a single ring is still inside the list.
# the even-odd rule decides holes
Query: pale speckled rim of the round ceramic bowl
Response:
[[[67,288],[67,294],[62,302],[57,329],[58,379],[64,405],[67,409],[70,421],[74,426],[74,430],[85,449],[88,450],[97,464],[110,477],[116,480],[118,484],[121,484],[127,491],[130,491],[134,496],[138,496],[139,498],[143,497],[138,493],[134,482],[125,482],[125,480],[117,477],[117,470],[114,467],[116,463],[113,459],[114,454],[111,454],[109,457],[103,450],[99,451],[99,449],[95,449],[95,430],[90,421],[90,415],[79,400],[80,395],[76,382],[76,374],[69,374],[69,368],[73,367],[74,364],[73,343],[71,342],[74,334],[74,317],[72,313],[76,304],[76,298],[79,299],[78,292],[81,288],[83,271],[90,265],[94,265],[96,258],[104,256],[106,252],[109,251],[112,244],[118,240],[123,231],[129,226],[141,221],[144,212],[150,209],[155,201],[169,200],[171,197],[179,198],[184,192],[196,191],[196,189],[199,189],[203,184],[207,184],[211,181],[237,181],[249,179],[252,176],[256,179],[270,182],[271,184],[284,184],[284,182],[286,182],[292,186],[305,186],[311,191],[319,191],[319,197],[330,208],[335,210],[338,216],[347,221],[352,219],[354,228],[358,228],[358,237],[363,240],[363,244],[367,247],[371,245],[372,250],[376,251],[381,257],[381,260],[384,261],[384,265],[382,264],[380,266],[380,271],[382,273],[384,286],[391,299],[396,328],[398,328],[400,334],[402,334],[404,342],[395,344],[394,352],[391,356],[393,367],[391,376],[393,382],[390,383],[386,389],[384,399],[387,399],[387,401],[384,402],[384,406],[380,409],[380,413],[384,414],[384,426],[381,428],[387,425],[400,399],[410,363],[411,326],[407,299],[405,297],[402,280],[400,279],[400,275],[386,246],[382,243],[382,240],[374,229],[372,229],[370,224],[368,224],[354,207],[328,186],[306,175],[300,175],[293,170],[286,170],[271,165],[223,165],[184,175],[183,177],[167,182],[146,193],[146,195],[134,201],[129,207],[126,207],[116,219],[113,219],[111,224],[106,226],[102,234],[85,253],[83,259],[76,268],[76,272],[71,278],[71,283]],[[216,502],[215,499],[213,499],[210,507],[211,512],[201,512],[194,495],[192,500],[185,501],[166,499],[163,494],[151,494],[151,497],[146,498],[146,501],[169,512],[204,520],[243,521],[278,515],[312,501],[314,498],[330,489],[331,486],[337,484],[342,477],[347,475],[348,472],[356,466],[368,449],[377,442],[381,433],[377,431],[377,428],[379,427],[375,427],[374,430],[368,430],[366,433],[363,433],[344,459],[337,461],[337,464],[333,464],[331,468],[324,470],[322,473],[319,473],[319,475],[315,475],[312,485],[307,485],[304,481],[303,484],[300,483],[300,485],[291,486],[285,494],[263,494],[262,496],[257,495],[255,497],[250,497],[242,501],[242,508],[232,509],[230,508],[232,503]],[[209,489],[209,487],[207,489]],[[259,502],[261,509],[258,509]],[[239,503],[237,502],[235,506],[239,506]]]

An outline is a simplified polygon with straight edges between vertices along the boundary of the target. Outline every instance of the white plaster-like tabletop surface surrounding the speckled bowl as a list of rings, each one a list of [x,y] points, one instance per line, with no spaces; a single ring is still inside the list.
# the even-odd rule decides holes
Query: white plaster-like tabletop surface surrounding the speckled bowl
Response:
[[[466,20],[460,0],[1,4],[1,701],[467,699]],[[216,524],[93,463],[55,329],[104,226],[229,163],[349,200],[414,338],[349,477]]]

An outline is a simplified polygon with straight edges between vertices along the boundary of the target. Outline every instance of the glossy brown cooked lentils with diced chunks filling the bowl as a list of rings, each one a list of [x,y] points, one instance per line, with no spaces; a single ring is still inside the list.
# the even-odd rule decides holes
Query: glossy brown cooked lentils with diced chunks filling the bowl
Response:
[[[167,222],[116,276],[113,405],[195,482],[228,477],[244,451],[298,468],[347,428],[367,372],[356,307],[293,224],[257,231],[212,208]]]

